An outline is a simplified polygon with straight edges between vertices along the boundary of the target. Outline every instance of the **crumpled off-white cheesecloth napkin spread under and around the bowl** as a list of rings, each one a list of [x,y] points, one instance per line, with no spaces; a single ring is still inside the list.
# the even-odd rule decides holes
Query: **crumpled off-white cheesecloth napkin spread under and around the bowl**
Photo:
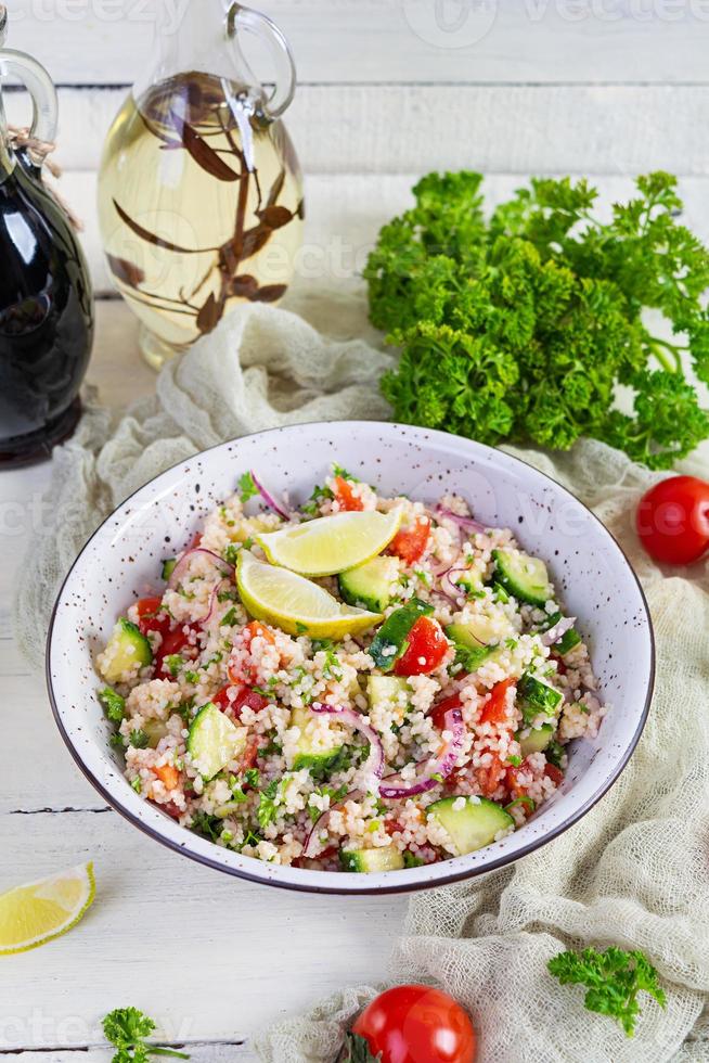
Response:
[[[36,662],[57,585],[82,542],[163,469],[287,422],[389,415],[377,390],[389,357],[374,346],[364,300],[341,285],[338,295],[291,298],[301,316],[256,305],[228,318],[123,418],[92,401],[55,452],[53,516],[30,543],[15,607],[21,644]],[[512,452],[592,507],[630,556],[655,622],[656,695],[630,765],[580,823],[513,868],[411,900],[391,981],[436,982],[466,1004],[482,1063],[709,1061],[707,571],[663,574],[643,554],[632,513],[656,477],[623,454],[594,441],[554,458]],[[693,471],[709,477],[709,462],[695,458]],[[643,949],[668,995],[665,1011],[644,999],[632,1040],[586,1011],[580,988],[546,972],[568,946],[608,944]],[[374,991],[343,990],[262,1035],[259,1058],[332,1063]]]

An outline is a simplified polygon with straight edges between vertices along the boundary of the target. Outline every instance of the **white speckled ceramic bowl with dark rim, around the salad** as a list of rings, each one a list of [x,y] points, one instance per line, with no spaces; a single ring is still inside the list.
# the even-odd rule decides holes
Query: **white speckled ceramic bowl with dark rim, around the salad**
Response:
[[[469,856],[381,874],[273,867],[229,853],[179,827],[139,797],[108,744],[96,701],[93,657],[115,619],[155,586],[159,562],[182,549],[202,517],[256,469],[273,490],[305,501],[337,461],[385,495],[433,502],[462,494],[477,517],[512,527],[547,560],[567,611],[579,617],[601,694],[611,705],[595,741],[578,741],[566,780],[521,830]],[[47,648],[56,722],[99,793],[156,841],[202,863],[268,885],[324,893],[424,889],[503,867],[579,820],[613,785],[637,743],[653,692],[647,605],[623,553],[603,525],[558,484],[529,465],[467,439],[370,422],[304,424],[265,432],[197,454],[129,498],[86,545],[60,592]]]

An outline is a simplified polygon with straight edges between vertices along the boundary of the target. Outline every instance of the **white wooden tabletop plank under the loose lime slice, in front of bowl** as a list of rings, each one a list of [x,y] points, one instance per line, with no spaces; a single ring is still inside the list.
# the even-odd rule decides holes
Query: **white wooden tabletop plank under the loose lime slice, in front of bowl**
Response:
[[[27,770],[34,770],[31,763]],[[403,898],[267,889],[168,853],[115,814],[0,816],[0,889],[95,863],[79,926],[0,965],[0,1050],[100,1043],[116,1007],[169,1041],[247,1039],[337,986],[377,982]]]

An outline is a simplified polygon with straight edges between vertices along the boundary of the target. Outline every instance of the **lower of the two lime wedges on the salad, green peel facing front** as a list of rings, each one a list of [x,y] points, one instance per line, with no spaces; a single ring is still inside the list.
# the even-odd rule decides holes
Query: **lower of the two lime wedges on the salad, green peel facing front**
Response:
[[[246,550],[239,555],[236,582],[252,616],[276,624],[288,635],[344,639],[382,619],[378,613],[343,605],[324,588],[287,568],[263,564]]]

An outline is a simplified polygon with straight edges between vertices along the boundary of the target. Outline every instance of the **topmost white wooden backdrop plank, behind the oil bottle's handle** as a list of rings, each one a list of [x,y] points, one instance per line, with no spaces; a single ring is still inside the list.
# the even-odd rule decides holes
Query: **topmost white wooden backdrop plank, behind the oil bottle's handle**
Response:
[[[173,22],[188,2],[165,0]],[[707,79],[706,0],[256,5],[283,27],[308,82]],[[14,0],[9,7],[13,46],[31,49],[57,81],[128,84],[151,63],[155,5],[146,0]],[[268,76],[268,67],[261,71]]]

